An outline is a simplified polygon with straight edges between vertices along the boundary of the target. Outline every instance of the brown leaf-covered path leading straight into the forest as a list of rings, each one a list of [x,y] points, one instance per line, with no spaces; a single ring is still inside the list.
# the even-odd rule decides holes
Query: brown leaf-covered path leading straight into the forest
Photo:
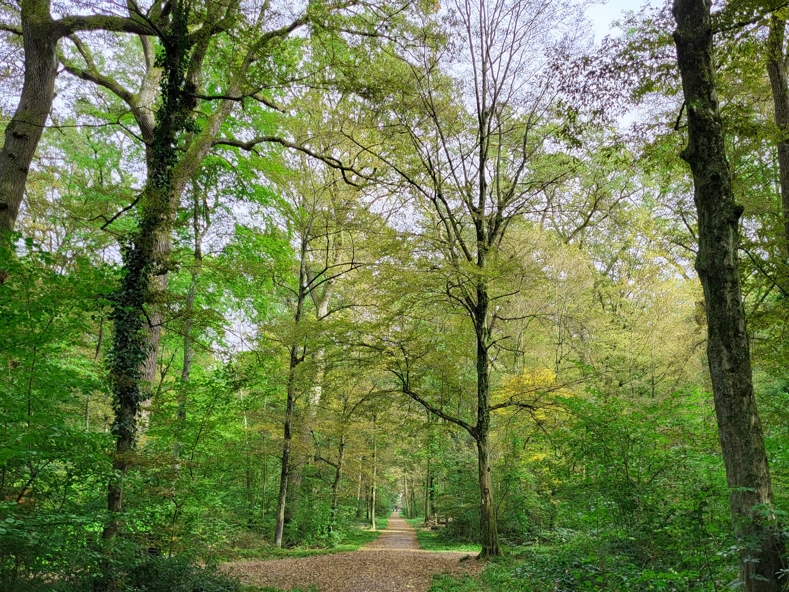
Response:
[[[319,592],[427,592],[433,574],[473,575],[482,565],[465,551],[423,551],[416,530],[398,515],[389,517],[375,541],[346,553],[288,557],[264,561],[235,561],[228,571],[242,583],[283,590]],[[473,556],[473,554],[472,554]]]

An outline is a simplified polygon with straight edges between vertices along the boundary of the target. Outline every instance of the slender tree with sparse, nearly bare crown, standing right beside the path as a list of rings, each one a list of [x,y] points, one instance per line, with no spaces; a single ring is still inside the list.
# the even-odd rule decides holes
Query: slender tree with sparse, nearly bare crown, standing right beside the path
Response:
[[[470,320],[475,335],[477,416],[473,422],[432,404],[412,380],[413,360],[391,366],[402,392],[477,444],[481,508],[481,557],[498,556],[491,465],[491,414],[522,403],[494,405],[491,399],[492,348],[499,340],[494,271],[510,225],[539,209],[549,186],[574,167],[573,159],[552,160],[544,147],[559,140],[548,123],[555,99],[551,77],[538,56],[566,24],[563,2],[454,2],[447,36],[450,48],[430,47],[405,60],[411,88],[396,93],[389,129],[394,145],[413,153],[413,162],[376,150],[402,179],[434,224],[436,244],[446,264],[446,297]],[[442,69],[469,65],[466,103]],[[466,104],[470,109],[466,109]],[[408,138],[408,147],[396,138]],[[359,141],[362,144],[362,141]],[[372,150],[372,148],[371,148]],[[426,484],[428,487],[428,484]],[[426,501],[426,508],[429,502]],[[427,519],[427,517],[425,517]]]

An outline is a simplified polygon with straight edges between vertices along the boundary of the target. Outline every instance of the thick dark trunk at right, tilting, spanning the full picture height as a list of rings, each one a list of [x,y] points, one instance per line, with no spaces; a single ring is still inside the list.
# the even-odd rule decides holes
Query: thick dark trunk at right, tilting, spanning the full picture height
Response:
[[[776,592],[783,542],[765,515],[772,485],[761,420],[753,395],[750,347],[739,276],[739,217],[726,159],[716,92],[709,0],[675,0],[674,40],[688,117],[688,145],[698,213],[696,270],[704,288],[707,356],[735,532],[742,540],[741,579],[747,592]],[[765,511],[766,510],[766,511]]]

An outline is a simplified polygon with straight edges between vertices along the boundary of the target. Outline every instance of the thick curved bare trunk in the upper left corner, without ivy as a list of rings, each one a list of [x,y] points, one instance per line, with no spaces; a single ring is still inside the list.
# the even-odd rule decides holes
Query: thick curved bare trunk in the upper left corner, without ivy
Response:
[[[0,236],[11,232],[17,221],[30,163],[52,108],[58,73],[58,36],[49,2],[26,0],[21,8],[24,84],[0,149]]]

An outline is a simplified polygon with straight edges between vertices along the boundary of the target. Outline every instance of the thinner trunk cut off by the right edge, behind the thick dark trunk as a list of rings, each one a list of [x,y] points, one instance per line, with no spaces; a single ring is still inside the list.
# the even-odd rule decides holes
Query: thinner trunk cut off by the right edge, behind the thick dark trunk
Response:
[[[779,133],[776,148],[783,213],[783,241],[786,242],[784,250],[789,255],[789,81],[787,81],[787,59],[783,50],[785,31],[786,21],[773,14],[767,36],[767,73],[770,78],[775,121]]]

